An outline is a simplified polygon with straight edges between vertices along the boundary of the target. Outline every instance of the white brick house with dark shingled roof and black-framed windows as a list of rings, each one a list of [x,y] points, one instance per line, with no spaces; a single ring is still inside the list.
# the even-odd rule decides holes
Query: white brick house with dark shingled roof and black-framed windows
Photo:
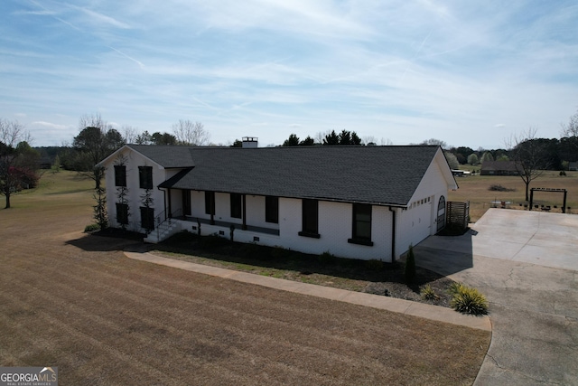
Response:
[[[392,261],[435,234],[457,189],[439,146],[126,145],[99,165],[110,226],[155,228],[145,241],[232,232],[352,259]]]

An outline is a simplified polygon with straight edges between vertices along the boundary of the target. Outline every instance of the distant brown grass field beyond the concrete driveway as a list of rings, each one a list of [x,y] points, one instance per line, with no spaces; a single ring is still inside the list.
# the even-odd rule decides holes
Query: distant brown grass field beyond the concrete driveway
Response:
[[[578,213],[578,172],[566,172],[566,176],[561,176],[559,172],[547,171],[532,183],[534,188],[556,188],[568,191],[566,205],[571,207],[570,212]],[[499,176],[499,175],[471,175],[468,177],[457,177],[456,181],[460,187],[455,192],[450,192],[450,201],[470,201],[471,221],[475,222],[489,208],[494,205],[492,202],[511,202],[508,208],[523,210],[526,203],[526,185],[519,176]],[[499,184],[509,192],[492,192],[489,187]],[[538,205],[550,205],[551,212],[562,212],[563,193],[536,192],[534,202]],[[519,204],[522,203],[522,206]],[[554,206],[557,208],[554,208]],[[500,206],[500,204],[499,204]]]

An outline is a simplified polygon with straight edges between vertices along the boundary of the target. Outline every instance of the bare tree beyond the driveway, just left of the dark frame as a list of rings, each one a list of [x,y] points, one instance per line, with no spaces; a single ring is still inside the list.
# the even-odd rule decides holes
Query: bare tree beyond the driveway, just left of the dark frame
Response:
[[[507,144],[517,174],[526,184],[526,201],[529,201],[530,183],[542,175],[548,167],[544,144],[536,139],[536,131],[536,128],[530,127],[527,131],[510,137]]]

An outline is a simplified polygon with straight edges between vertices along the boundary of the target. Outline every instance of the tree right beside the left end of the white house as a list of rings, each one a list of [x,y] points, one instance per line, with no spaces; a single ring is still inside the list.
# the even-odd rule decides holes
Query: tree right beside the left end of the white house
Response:
[[[74,137],[72,146],[76,150],[74,169],[87,175],[100,187],[104,176],[104,167],[98,163],[125,145],[122,135],[108,125],[100,114],[84,115],[79,119],[79,135]]]

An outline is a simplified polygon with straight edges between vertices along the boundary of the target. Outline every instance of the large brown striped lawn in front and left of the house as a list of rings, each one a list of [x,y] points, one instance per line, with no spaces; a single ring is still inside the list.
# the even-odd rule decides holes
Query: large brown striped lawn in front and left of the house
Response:
[[[471,384],[489,333],[126,259],[91,183],[45,174],[0,210],[0,365],[61,385]]]

